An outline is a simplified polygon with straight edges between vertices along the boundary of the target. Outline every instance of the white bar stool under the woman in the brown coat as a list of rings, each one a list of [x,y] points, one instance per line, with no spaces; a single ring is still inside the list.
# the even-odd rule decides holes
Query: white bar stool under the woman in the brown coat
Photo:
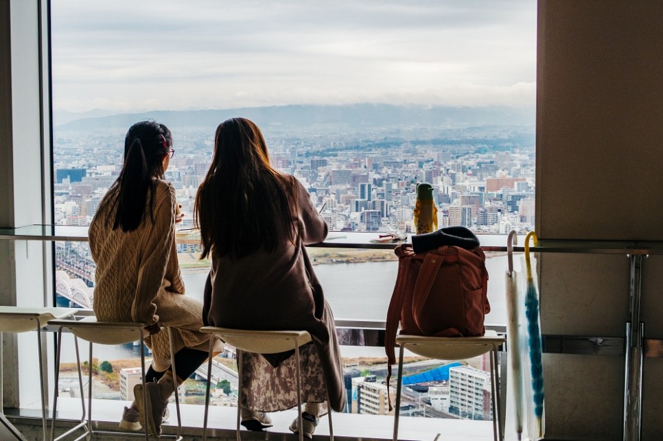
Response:
[[[242,352],[255,354],[276,354],[294,349],[296,372],[297,372],[297,409],[299,411],[299,441],[303,441],[303,421],[301,418],[301,372],[299,367],[299,347],[311,341],[311,335],[307,331],[249,331],[244,329],[218,328],[216,326],[204,326],[201,332],[218,335],[222,342],[234,346],[237,349],[237,441],[242,440],[240,435],[240,407],[242,403]],[[214,339],[209,339],[209,359],[207,360],[207,394],[205,396],[205,420],[202,425],[202,440],[207,440],[207,413],[209,410],[209,386],[212,372]],[[329,440],[334,441],[332,429],[332,407],[327,400],[329,418]]]

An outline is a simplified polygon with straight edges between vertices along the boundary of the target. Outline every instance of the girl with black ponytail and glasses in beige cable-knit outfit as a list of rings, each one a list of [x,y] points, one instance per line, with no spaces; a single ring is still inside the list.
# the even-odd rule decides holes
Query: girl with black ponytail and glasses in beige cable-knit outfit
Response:
[[[124,165],[100,203],[89,230],[97,265],[93,309],[97,320],[148,324],[152,365],[125,407],[120,428],[136,431],[147,422],[161,434],[168,398],[207,359],[209,335],[200,333],[202,303],[185,296],[175,246],[180,222],[175,189],[163,180],[174,153],[172,135],[154,121],[135,123],[124,140]],[[170,369],[170,342],[161,326],[172,329],[177,379]],[[218,342],[218,350],[222,346]],[[147,412],[146,412],[147,409]]]

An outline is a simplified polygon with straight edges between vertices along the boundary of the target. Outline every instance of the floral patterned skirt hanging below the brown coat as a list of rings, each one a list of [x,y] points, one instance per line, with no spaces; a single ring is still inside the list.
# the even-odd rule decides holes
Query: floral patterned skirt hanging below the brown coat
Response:
[[[301,396],[304,403],[325,403],[325,377],[312,342],[299,348]],[[242,353],[242,407],[259,412],[277,412],[297,405],[297,371],[292,355],[272,366],[264,357]]]

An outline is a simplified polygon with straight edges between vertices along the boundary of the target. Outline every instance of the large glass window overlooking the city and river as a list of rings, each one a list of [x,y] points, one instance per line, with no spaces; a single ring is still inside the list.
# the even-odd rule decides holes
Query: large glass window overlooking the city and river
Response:
[[[533,228],[531,0],[58,0],[51,8],[57,224],[91,222],[121,169],[126,130],[156,119],[174,135],[167,179],[186,214],[178,228],[194,228],[214,130],[243,116],[261,127],[272,163],[305,184],[332,230],[376,238],[411,231],[419,182],[432,184],[439,227]],[[192,295],[202,293],[209,267],[199,252],[182,231],[178,253]],[[314,248],[311,255],[337,318],[384,319],[396,275],[392,252]],[[489,259],[497,277],[487,320],[495,323],[505,317],[503,259]],[[90,307],[94,263],[85,243],[56,244],[56,285],[58,302]],[[356,385],[384,381],[384,352],[362,349],[360,358],[346,350],[355,378],[349,411],[373,403],[365,412],[384,413],[385,390]],[[125,378],[115,368],[137,366],[124,363],[132,355],[134,348],[100,355],[117,372],[106,377]],[[434,405],[428,385],[410,391],[410,414],[478,418],[465,407],[449,409],[448,381],[435,384],[443,387]],[[228,392],[221,401],[232,401],[232,388],[218,386]],[[452,402],[459,393],[452,386]]]

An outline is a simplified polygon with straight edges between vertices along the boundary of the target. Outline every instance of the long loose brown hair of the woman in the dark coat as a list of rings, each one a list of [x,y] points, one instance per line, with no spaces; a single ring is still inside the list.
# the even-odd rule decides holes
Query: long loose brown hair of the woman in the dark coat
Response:
[[[289,198],[294,184],[292,176],[270,165],[267,144],[255,123],[244,118],[220,123],[212,163],[196,194],[200,259],[212,250],[231,259],[259,249],[272,252],[283,241],[283,231],[288,232],[285,239],[294,241],[296,206],[290,206]]]

